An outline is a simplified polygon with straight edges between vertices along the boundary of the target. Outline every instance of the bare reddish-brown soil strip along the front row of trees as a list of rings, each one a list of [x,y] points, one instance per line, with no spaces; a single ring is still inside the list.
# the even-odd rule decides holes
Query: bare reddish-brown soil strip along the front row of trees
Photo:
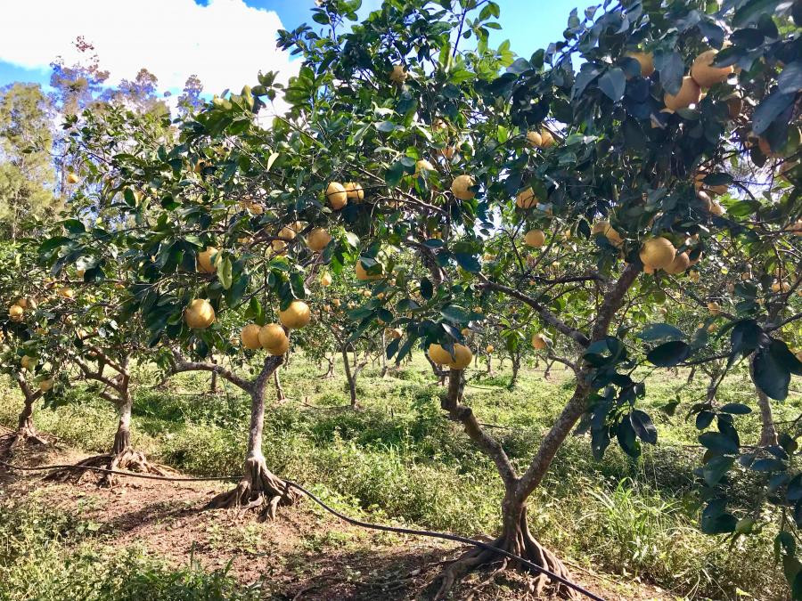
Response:
[[[15,465],[71,464],[88,454],[60,445],[17,453]],[[39,502],[78,512],[100,524],[103,541],[118,547],[137,544],[170,564],[223,568],[244,584],[259,582],[266,598],[390,601],[430,599],[430,583],[465,548],[437,540],[367,531],[345,524],[310,500],[279,508],[274,521],[258,522],[253,512],[202,511],[232,483],[168,483],[121,477],[100,488],[100,475],[80,483],[49,483],[43,472],[13,472],[0,466],[0,491],[21,498],[39,491]],[[179,475],[180,476],[180,475]],[[589,573],[568,563],[573,578],[605,599],[674,598],[655,587]],[[534,600],[533,579],[509,571],[470,574],[452,589],[454,599]]]

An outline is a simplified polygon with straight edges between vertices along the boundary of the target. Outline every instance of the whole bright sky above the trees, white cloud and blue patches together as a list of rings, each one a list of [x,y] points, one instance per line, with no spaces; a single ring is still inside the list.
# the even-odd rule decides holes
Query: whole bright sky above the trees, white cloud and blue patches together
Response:
[[[496,1],[503,29],[493,32],[491,44],[509,38],[512,50],[526,58],[561,39],[571,9],[591,4]],[[379,4],[381,0],[363,0],[360,12],[364,15]],[[258,69],[291,74],[289,58],[271,47],[275,29],[278,20],[283,28],[312,23],[314,5],[314,0],[12,0],[4,6],[4,16],[11,17],[4,22],[36,22],[37,27],[3,31],[0,26],[0,85],[46,85],[49,62],[58,54],[70,62],[70,40],[83,35],[96,45],[101,66],[110,69],[114,83],[145,67],[160,78],[162,90],[176,93],[187,76],[198,73],[206,92],[219,93],[253,83]],[[128,27],[109,28],[115,21]]]

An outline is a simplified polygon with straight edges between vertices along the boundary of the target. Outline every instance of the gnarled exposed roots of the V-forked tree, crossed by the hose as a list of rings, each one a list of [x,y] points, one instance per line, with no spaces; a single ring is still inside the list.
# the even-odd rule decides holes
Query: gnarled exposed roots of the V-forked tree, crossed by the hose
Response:
[[[505,551],[513,553],[517,556],[532,562],[533,564],[544,567],[546,570],[569,580],[570,575],[568,568],[557,558],[551,551],[544,548],[535,538],[528,532],[528,528],[524,525],[523,528],[517,528],[516,532],[510,535],[504,535],[488,543],[496,548],[502,548]],[[455,560],[446,568],[440,580],[440,588],[438,589],[435,599],[444,598],[448,592],[454,587],[457,581],[460,581],[468,573],[479,570],[483,566],[491,564],[499,564],[496,572],[501,572],[508,567],[513,567],[522,572],[532,573],[534,581],[531,586],[533,592],[537,597],[543,594],[546,587],[550,588],[553,594],[564,599],[579,599],[577,592],[570,589],[559,581],[552,581],[549,576],[544,573],[536,573],[534,570],[526,565],[521,565],[519,562],[509,557],[499,555],[495,551],[484,548],[471,548],[459,559]]]

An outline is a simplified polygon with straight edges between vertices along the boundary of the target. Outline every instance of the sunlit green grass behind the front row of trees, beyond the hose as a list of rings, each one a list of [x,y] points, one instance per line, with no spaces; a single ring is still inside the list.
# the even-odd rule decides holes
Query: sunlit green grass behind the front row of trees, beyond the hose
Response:
[[[348,404],[344,380],[315,378],[303,357],[282,370],[291,401],[266,414],[264,452],[276,473],[311,486],[351,513],[464,535],[497,529],[501,483],[495,468],[475,451],[439,410],[442,388],[431,384],[428,366],[415,362],[392,378],[364,370],[359,381],[362,411]],[[143,385],[150,386],[143,373]],[[249,402],[233,387],[202,394],[208,375],[176,378],[166,394],[140,388],[135,402],[135,443],[154,459],[188,473],[237,473],[247,436]],[[500,428],[511,459],[524,467],[571,392],[569,378],[545,382],[541,371],[524,370],[520,385],[506,388],[509,373],[472,380],[467,402],[479,420]],[[735,598],[741,589],[757,598],[776,591],[782,573],[771,559],[771,528],[732,547],[697,529],[700,501],[692,470],[699,466],[693,420],[685,414],[704,394],[702,376],[687,385],[683,375],[663,374],[647,385],[644,408],[659,428],[659,444],[634,461],[610,448],[597,462],[585,437],[570,437],[544,484],[530,499],[533,532],[561,556],[610,573],[637,575],[675,594]],[[268,393],[272,394],[272,393]],[[677,394],[674,417],[659,410]],[[113,436],[110,406],[91,391],[75,389],[54,411],[40,411],[38,426],[68,443],[103,451]],[[750,396],[751,395],[751,396]],[[724,383],[723,401],[752,402],[743,374]],[[310,408],[301,403],[305,400]],[[775,406],[775,418],[795,416],[799,394]],[[12,424],[18,405],[0,402],[0,422]],[[757,439],[757,412],[738,418],[744,443]],[[748,478],[736,478],[742,509],[755,499]],[[736,508],[737,509],[737,508]]]

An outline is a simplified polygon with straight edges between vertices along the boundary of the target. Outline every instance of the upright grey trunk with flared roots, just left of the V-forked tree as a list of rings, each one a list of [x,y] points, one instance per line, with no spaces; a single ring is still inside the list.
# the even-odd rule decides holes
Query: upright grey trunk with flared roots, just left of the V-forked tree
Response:
[[[265,426],[265,385],[267,378],[282,364],[282,357],[268,357],[265,367],[250,386],[250,428],[248,452],[245,455],[245,475],[233,491],[217,495],[207,509],[255,509],[261,519],[274,519],[276,508],[292,505],[299,497],[281,478],[274,475],[262,454],[262,431]]]

